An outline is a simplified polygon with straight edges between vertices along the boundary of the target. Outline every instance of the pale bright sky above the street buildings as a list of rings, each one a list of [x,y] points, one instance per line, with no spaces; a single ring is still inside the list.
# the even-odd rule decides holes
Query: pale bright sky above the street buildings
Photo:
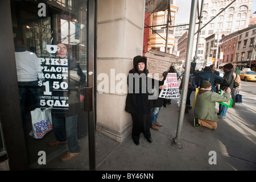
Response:
[[[191,10],[191,0],[176,0],[175,6],[179,7],[175,18],[175,24],[177,23],[189,23],[189,16]],[[256,0],[253,0],[253,6],[251,7],[251,13],[256,11]]]

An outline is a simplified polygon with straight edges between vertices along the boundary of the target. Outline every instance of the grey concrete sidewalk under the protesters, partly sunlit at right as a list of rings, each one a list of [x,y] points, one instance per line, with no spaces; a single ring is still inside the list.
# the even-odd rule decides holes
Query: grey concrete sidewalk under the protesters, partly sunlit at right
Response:
[[[191,102],[195,92],[192,93]],[[245,98],[246,99],[246,98]],[[192,126],[193,109],[185,113],[181,133],[183,148],[172,145],[176,137],[179,107],[177,100],[163,107],[158,121],[163,126],[151,129],[152,143],[141,134],[140,145],[131,137],[123,144],[96,132],[97,171],[171,171],[171,170],[256,170],[256,106],[236,105],[219,119],[217,130]],[[218,110],[218,104],[216,104]],[[215,151],[216,164],[209,164]],[[212,160],[210,160],[212,161]]]

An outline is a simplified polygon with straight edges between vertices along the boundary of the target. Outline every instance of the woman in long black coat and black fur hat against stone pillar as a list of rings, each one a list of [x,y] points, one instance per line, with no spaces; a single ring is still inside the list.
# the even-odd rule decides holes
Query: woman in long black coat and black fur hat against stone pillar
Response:
[[[153,101],[148,99],[150,93],[147,86],[150,83],[147,79],[147,73],[146,57],[135,56],[133,59],[133,69],[129,71],[127,77],[129,92],[126,97],[125,111],[130,113],[133,119],[131,138],[137,145],[139,145],[141,133],[143,133],[148,142],[152,142],[150,127]],[[148,86],[148,88],[152,89],[152,86]]]

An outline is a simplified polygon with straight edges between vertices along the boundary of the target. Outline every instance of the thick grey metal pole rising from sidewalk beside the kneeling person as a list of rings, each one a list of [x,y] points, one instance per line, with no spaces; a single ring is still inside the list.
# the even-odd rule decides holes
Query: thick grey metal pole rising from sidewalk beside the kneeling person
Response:
[[[184,119],[184,111],[185,111],[185,104],[188,92],[188,79],[189,79],[189,72],[191,67],[191,56],[193,50],[193,40],[195,35],[195,23],[196,23],[196,7],[197,7],[197,0],[192,0],[191,2],[191,13],[190,13],[190,20],[189,20],[189,35],[188,35],[188,44],[187,44],[187,55],[186,55],[186,63],[185,63],[185,74],[184,74],[184,82],[183,82],[183,92],[181,95],[181,105],[180,105],[180,113],[179,113],[179,121],[177,123],[177,133],[176,137],[174,138],[175,144],[179,145],[180,143],[180,136],[181,136],[181,127],[183,125]]]

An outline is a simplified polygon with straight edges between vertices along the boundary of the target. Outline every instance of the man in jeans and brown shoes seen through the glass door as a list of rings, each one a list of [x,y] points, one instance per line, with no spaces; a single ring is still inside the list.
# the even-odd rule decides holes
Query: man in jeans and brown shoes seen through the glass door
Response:
[[[61,80],[68,87],[65,90],[54,91],[59,98],[66,98],[68,108],[52,109],[53,113],[53,131],[55,133],[55,140],[48,143],[48,146],[54,147],[59,144],[68,143],[69,152],[67,155],[61,157],[61,162],[67,162],[80,154],[80,147],[78,142],[78,114],[80,111],[80,100],[85,86],[85,74],[82,72],[80,65],[70,59],[68,56],[68,45],[57,42],[59,50],[56,56],[60,61],[67,61],[67,65],[61,67],[64,76]],[[57,65],[59,66],[59,65]],[[60,67],[60,66],[59,66]],[[52,67],[51,67],[52,69]],[[60,68],[59,68],[60,70]],[[58,72],[59,73],[59,72]],[[50,81],[54,81],[51,79]],[[60,80],[58,80],[59,82]],[[56,82],[56,81],[55,81]],[[53,85],[54,86],[54,85]]]

